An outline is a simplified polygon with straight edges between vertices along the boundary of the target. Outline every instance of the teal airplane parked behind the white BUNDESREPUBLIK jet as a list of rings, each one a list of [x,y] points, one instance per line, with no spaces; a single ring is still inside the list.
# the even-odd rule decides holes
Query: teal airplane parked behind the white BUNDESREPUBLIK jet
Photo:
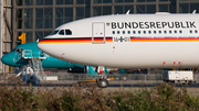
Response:
[[[42,51],[38,48],[38,42],[32,43],[25,43],[15,46],[10,53],[2,56],[1,62],[8,66],[12,67],[23,67],[29,64],[29,60],[25,59],[27,56],[30,56],[30,53],[32,53],[32,56],[34,58],[39,57],[45,57],[44,59],[41,59],[42,68],[59,68],[59,69],[80,69],[84,71],[85,66],[73,64],[70,62],[64,62],[62,59],[54,58],[50,55],[43,54]],[[92,66],[86,66],[86,71],[88,76],[95,76],[98,73],[95,71],[95,68]],[[107,74],[107,69],[105,69],[105,74]]]

